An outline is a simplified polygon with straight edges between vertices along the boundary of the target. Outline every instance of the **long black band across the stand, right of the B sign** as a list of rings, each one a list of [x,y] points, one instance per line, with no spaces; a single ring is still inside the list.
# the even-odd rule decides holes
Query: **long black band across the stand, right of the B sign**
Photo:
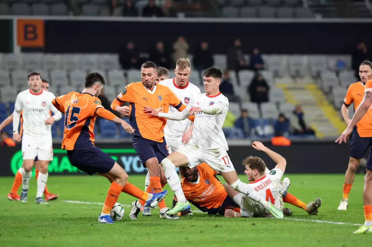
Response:
[[[133,41],[140,53],[151,53],[163,41],[173,52],[177,37],[186,37],[193,53],[207,41],[213,53],[225,53],[235,38],[250,53],[254,47],[263,54],[350,54],[359,40],[367,45],[371,23],[218,23],[218,22],[103,22],[47,20],[45,52],[117,53]],[[99,39],[99,46],[94,40]],[[61,45],[61,44],[64,45]]]

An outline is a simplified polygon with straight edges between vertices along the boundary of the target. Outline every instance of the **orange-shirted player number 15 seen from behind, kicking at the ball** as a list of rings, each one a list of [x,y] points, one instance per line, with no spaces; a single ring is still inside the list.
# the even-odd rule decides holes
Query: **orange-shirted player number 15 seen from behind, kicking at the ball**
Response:
[[[108,154],[94,146],[94,122],[98,116],[119,123],[129,134],[134,132],[128,123],[101,105],[97,96],[104,85],[105,80],[102,75],[92,72],[87,75],[82,92],[70,92],[59,96],[52,103],[60,112],[65,113],[62,149],[67,150],[71,165],[89,175],[95,173],[102,175],[112,182],[102,213],[98,217],[99,223],[112,224],[110,211],[118,200],[120,192],[137,197],[146,201],[150,207],[155,207],[158,201],[163,200],[167,191],[150,194],[128,183],[128,175],[124,169]]]

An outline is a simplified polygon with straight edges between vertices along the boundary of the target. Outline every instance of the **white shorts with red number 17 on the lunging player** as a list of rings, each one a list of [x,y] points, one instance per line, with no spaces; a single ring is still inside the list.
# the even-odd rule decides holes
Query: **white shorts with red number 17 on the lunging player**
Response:
[[[205,162],[218,173],[235,171],[234,165],[232,165],[225,149],[201,149],[194,144],[186,144],[183,148],[178,149],[177,152],[187,157],[190,168]]]

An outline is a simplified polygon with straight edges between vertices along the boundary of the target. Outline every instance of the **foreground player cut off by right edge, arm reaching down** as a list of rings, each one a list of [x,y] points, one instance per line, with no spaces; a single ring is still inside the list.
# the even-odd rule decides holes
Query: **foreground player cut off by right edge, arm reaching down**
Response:
[[[354,126],[359,123],[360,119],[369,111],[371,111],[372,104],[372,80],[367,80],[364,86],[363,101],[356,109],[352,120],[347,128],[342,132],[341,136],[336,140],[339,144],[345,142],[353,131]],[[371,124],[371,119],[369,119]],[[363,210],[364,210],[364,225],[359,227],[354,234],[372,234],[372,149],[369,149],[369,155],[366,165],[366,175],[364,177],[363,190]]]

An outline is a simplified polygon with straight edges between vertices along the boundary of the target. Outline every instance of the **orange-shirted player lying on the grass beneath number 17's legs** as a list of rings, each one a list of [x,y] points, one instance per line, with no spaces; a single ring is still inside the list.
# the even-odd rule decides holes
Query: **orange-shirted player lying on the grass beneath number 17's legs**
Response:
[[[236,212],[240,213],[240,200],[237,200],[237,197],[239,196],[235,197],[237,194],[239,195],[239,193],[237,193],[235,190],[232,190],[230,185],[227,183],[222,185],[216,177],[217,172],[215,172],[207,164],[201,163],[193,168],[181,167],[180,170],[185,176],[181,181],[183,193],[185,194],[186,199],[199,210],[208,214],[220,215],[225,215],[225,211],[228,209],[232,210],[232,215],[234,215]],[[266,173],[269,173],[267,168],[266,171]],[[288,181],[287,178],[286,180]],[[287,188],[288,186],[286,186],[286,182],[284,180],[279,183],[279,194],[284,195],[284,202],[288,202],[296,207],[302,208],[310,215],[316,215],[317,209],[320,207],[320,204],[316,204],[317,200],[315,200],[315,202],[305,204],[293,195],[286,192]],[[173,207],[176,202],[177,198],[174,197]],[[282,211],[284,215],[291,215],[291,211],[289,209],[285,210],[284,208]],[[229,212],[230,211],[228,211],[228,213]],[[181,215],[186,214],[186,211],[181,212]]]

